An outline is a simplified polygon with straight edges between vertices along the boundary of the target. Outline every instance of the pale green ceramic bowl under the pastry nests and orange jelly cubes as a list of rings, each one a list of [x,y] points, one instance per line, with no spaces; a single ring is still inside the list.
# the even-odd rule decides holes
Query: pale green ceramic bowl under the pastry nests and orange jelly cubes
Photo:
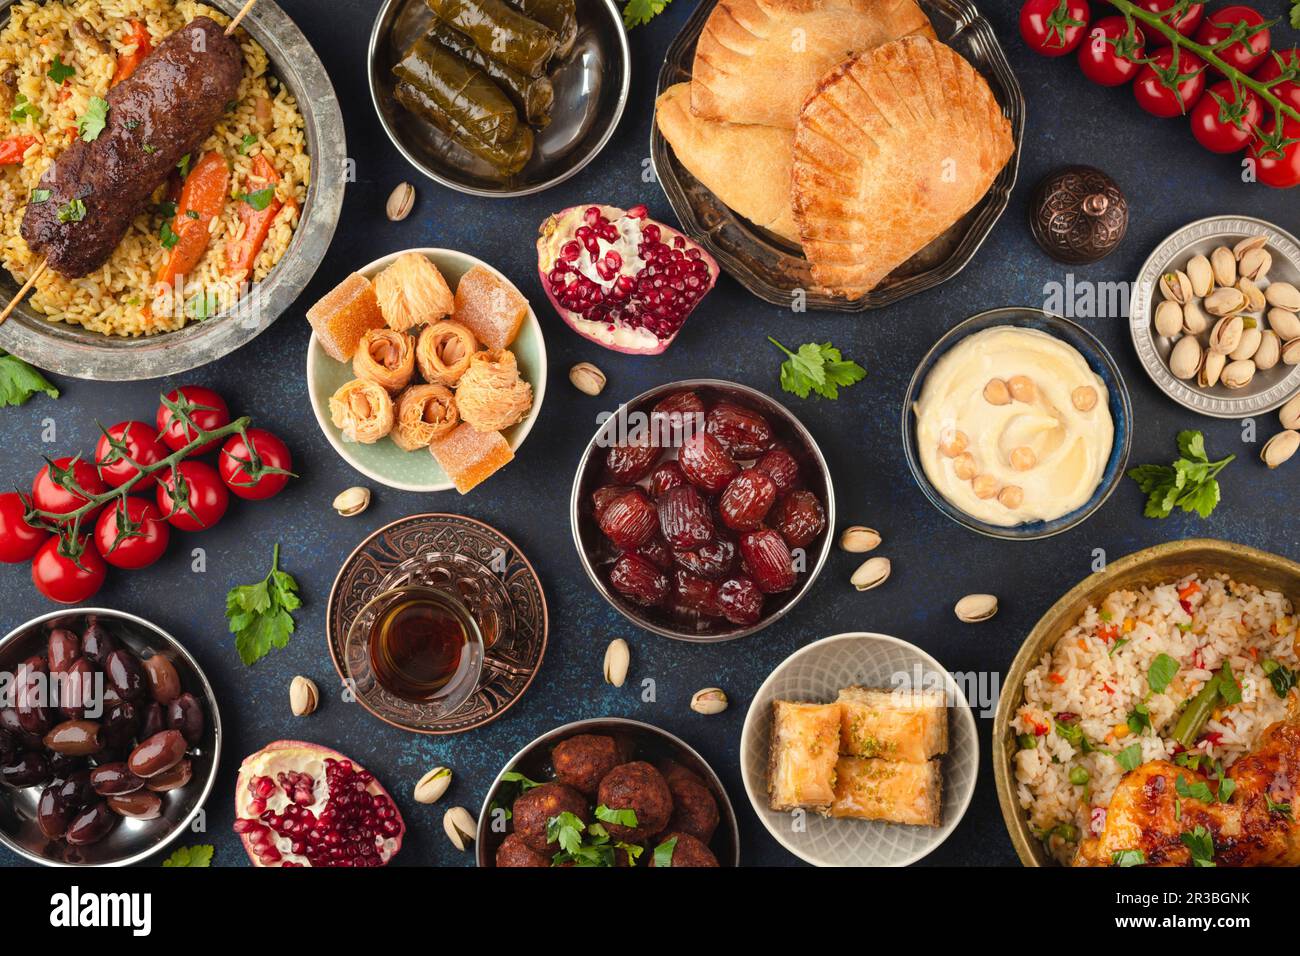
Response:
[[[363,265],[358,272],[367,278],[374,278],[398,256],[407,252],[417,252],[433,261],[452,289],[471,268],[482,265],[519,291],[515,284],[499,269],[474,259],[472,255],[450,248],[400,250],[382,259],[376,259],[369,265]],[[519,359],[524,380],[533,386],[533,407],[528,411],[528,418],[504,431],[510,447],[517,453],[519,446],[524,444],[524,438],[533,429],[533,423],[537,421],[537,415],[542,410],[542,399],[546,397],[546,342],[542,338],[541,323],[537,321],[537,313],[533,312],[532,306],[528,308],[528,317],[519,330],[519,337],[510,349]],[[446,492],[454,488],[428,449],[403,451],[389,438],[380,438],[373,445],[360,445],[343,440],[343,433],[330,420],[329,397],[341,385],[355,377],[351,363],[335,362],[326,355],[313,332],[311,342],[307,345],[307,393],[311,397],[312,411],[316,412],[316,423],[339,457],[367,477],[398,490]]]

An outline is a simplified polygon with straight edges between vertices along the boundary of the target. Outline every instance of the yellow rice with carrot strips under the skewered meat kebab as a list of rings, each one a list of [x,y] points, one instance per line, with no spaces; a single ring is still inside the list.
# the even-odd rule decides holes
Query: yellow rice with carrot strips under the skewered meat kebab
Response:
[[[40,176],[73,138],[103,127],[114,81],[198,16],[230,22],[192,0],[23,0],[9,8],[0,31],[0,264],[20,282],[39,261],[20,226],[25,206],[42,202]],[[311,181],[303,116],[270,74],[266,52],[243,31],[237,38],[243,77],[216,130],[182,160],[101,268],[84,278],[46,271],[29,299],[38,312],[116,336],[170,332],[233,306],[285,255]],[[191,261],[182,255],[187,243],[177,250],[186,225],[177,203],[185,203],[185,183],[196,174],[222,182],[218,160],[229,187],[208,221],[211,241]],[[160,280],[177,285],[176,276],[185,281],[173,306],[173,294],[156,297]]]

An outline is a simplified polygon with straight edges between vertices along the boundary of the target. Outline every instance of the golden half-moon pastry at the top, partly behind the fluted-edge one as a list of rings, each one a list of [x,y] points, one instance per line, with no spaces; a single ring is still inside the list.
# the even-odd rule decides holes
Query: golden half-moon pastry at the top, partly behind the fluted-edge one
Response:
[[[696,44],[690,107],[793,129],[827,70],[910,35],[935,35],[915,0],[719,0]]]

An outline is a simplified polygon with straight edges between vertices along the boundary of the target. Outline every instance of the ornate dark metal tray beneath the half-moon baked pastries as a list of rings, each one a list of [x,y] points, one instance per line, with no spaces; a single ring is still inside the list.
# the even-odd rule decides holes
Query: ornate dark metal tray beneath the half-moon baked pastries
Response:
[[[658,96],[673,83],[690,79],[696,43],[715,3],[702,3],[668,47],[659,70]],[[764,302],[792,306],[806,294],[810,308],[864,312],[932,289],[956,276],[979,251],[1006,209],[1015,186],[1024,140],[1024,95],[997,42],[993,26],[970,0],[920,0],[939,39],[965,56],[988,81],[1002,112],[1011,121],[1015,151],[984,198],[948,232],[859,299],[816,290],[807,259],[794,246],[755,226],[723,206],[677,161],[658,124],[650,129],[650,159],[672,211],[696,242],[707,248],[728,274]]]

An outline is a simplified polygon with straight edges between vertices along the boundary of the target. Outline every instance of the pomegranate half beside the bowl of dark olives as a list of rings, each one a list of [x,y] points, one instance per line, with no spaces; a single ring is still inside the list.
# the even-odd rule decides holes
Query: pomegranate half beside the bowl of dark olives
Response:
[[[384,866],[402,848],[406,825],[355,761],[277,740],[239,765],[234,830],[254,866]]]

